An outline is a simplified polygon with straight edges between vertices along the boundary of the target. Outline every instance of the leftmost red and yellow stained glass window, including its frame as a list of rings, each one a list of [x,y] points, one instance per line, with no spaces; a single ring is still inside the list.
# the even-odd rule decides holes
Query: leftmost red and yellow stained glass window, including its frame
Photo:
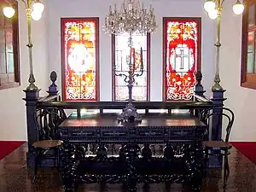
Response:
[[[65,101],[98,100],[98,18],[61,19]]]

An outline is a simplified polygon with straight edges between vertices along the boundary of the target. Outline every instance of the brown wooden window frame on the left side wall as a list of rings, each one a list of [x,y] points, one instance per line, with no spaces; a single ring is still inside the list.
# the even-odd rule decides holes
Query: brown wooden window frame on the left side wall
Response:
[[[0,1],[2,6],[8,5],[5,1]],[[15,15],[9,19],[12,20],[12,31],[13,31],[13,51],[14,51],[14,82],[9,82],[7,84],[1,84],[3,78],[0,78],[0,90],[6,90],[9,88],[15,88],[20,86],[20,44],[19,44],[19,9],[18,2],[12,1],[12,7],[15,9]],[[5,17],[3,15],[3,17]],[[5,19],[5,18],[4,18]],[[6,55],[6,51],[5,51]],[[7,64],[7,61],[6,61]],[[4,79],[8,79],[8,74]]]

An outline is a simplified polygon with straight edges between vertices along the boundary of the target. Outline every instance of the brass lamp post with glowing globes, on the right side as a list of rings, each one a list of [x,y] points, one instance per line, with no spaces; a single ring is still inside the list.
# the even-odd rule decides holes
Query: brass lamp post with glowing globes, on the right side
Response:
[[[223,10],[224,0],[207,0],[204,4],[204,9],[207,11],[208,16],[212,20],[217,20],[217,41],[214,44],[216,47],[216,72],[214,77],[214,84],[212,85],[212,90],[223,90],[220,83],[219,78],[219,49],[220,49],[220,23],[221,23],[221,15]],[[240,0],[236,1],[236,4],[233,6],[233,12],[236,15],[241,15],[244,10],[244,6]]]

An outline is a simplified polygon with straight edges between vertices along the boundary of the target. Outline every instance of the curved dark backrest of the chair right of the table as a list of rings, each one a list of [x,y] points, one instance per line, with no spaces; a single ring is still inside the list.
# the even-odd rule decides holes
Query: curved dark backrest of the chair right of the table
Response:
[[[207,108],[206,110],[202,111],[201,113],[201,121],[203,121],[206,125],[209,125],[209,121],[211,119],[212,116],[215,115],[220,115],[221,117],[217,118],[218,121],[221,122],[217,122],[217,125],[222,124],[222,120],[225,118],[227,119],[227,126],[226,126],[226,135],[225,135],[225,139],[224,142],[228,143],[230,140],[230,131],[232,129],[232,126],[234,124],[234,120],[235,120],[235,114],[233,113],[232,110],[230,110],[230,108]]]

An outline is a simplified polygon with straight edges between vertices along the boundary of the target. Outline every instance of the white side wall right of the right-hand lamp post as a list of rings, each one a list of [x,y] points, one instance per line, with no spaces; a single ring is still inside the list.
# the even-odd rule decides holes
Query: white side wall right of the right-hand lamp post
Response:
[[[232,141],[256,140],[256,90],[240,86],[241,74],[241,16],[234,15],[232,5],[236,1],[224,3],[221,33],[221,84],[228,100],[225,105],[233,109],[236,115],[232,128]]]

